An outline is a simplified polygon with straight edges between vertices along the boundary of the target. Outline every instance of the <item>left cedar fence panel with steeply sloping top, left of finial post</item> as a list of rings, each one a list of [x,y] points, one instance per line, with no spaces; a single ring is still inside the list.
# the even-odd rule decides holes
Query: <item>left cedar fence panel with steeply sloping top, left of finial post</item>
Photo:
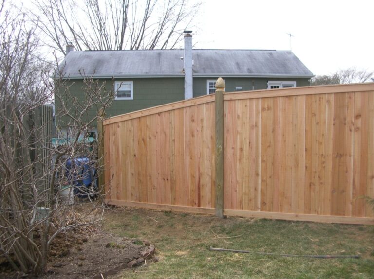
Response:
[[[112,203],[214,209],[212,97],[165,111],[150,109],[148,115],[120,122],[104,121],[105,181],[112,179],[107,188]]]

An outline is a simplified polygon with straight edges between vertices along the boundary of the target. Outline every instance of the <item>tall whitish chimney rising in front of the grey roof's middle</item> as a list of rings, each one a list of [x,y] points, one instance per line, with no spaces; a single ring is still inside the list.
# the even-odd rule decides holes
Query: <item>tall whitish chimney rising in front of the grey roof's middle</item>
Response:
[[[193,97],[192,87],[192,31],[185,30],[185,100]]]

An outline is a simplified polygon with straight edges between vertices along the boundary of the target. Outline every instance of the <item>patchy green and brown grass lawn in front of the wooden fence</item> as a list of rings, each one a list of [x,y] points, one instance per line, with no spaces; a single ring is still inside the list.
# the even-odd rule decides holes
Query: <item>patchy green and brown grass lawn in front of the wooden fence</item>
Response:
[[[374,278],[374,226],[115,209],[104,228],[149,240],[159,262],[124,270],[116,278]],[[119,212],[118,212],[119,211]],[[304,255],[360,255],[311,259],[232,252],[209,247]]]

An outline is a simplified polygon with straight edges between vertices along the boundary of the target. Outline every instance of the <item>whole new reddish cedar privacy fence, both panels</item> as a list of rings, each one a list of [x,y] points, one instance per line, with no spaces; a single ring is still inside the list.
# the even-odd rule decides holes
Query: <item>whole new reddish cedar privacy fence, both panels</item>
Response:
[[[107,201],[374,224],[373,83],[217,94],[104,120]]]

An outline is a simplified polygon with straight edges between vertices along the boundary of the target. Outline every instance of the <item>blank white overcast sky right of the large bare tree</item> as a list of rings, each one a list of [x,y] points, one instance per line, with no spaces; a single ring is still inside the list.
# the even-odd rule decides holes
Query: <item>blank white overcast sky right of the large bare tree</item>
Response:
[[[194,48],[289,50],[314,74],[374,71],[374,0],[202,0]]]

